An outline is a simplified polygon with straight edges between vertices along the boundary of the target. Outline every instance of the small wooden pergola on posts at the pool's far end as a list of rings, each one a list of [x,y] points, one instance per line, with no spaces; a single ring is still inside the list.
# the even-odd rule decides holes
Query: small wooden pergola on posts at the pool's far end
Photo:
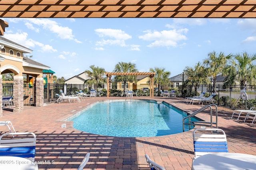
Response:
[[[148,75],[150,77],[150,90],[149,90],[149,96],[154,98],[154,75],[156,72],[105,72],[107,76],[107,98],[110,96],[110,86],[111,86],[111,77],[112,76],[146,76]]]

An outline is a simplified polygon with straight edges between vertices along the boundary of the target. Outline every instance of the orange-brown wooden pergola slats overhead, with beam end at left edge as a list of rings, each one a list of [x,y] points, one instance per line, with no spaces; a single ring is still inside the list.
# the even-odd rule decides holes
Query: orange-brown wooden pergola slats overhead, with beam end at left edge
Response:
[[[256,18],[255,1],[0,0],[0,18]]]

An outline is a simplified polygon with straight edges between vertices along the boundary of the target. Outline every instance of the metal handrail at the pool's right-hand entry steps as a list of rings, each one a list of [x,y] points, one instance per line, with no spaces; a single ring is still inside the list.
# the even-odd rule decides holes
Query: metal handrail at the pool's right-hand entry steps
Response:
[[[215,116],[216,116],[216,122],[212,121],[212,106],[215,106]],[[207,121],[191,121],[191,117],[195,116],[197,113],[200,113],[202,111],[204,111],[205,109],[210,108],[210,122]],[[185,119],[188,119],[188,123],[185,123]],[[216,104],[210,104],[210,105],[206,105],[201,107],[200,109],[194,111],[193,113],[191,113],[190,115],[188,115],[187,117],[185,117],[183,119],[183,131],[185,131],[185,127],[184,125],[189,125],[189,129],[191,125],[199,125],[199,126],[208,126],[210,128],[213,128],[212,125],[216,125],[216,128],[218,128],[218,107]]]

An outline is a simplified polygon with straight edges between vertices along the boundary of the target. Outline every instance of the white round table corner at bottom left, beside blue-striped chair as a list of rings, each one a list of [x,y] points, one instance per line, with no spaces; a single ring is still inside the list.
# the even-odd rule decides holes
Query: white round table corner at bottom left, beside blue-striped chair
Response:
[[[38,165],[26,158],[0,156],[0,170],[38,170]]]

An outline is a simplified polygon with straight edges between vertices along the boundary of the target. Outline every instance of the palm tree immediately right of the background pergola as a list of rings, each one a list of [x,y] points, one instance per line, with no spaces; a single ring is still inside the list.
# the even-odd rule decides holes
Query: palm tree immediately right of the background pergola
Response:
[[[150,72],[156,72],[154,77],[154,84],[157,84],[158,91],[160,91],[160,84],[161,85],[168,85],[170,83],[169,76],[171,74],[170,71],[165,71],[165,68],[150,68]]]

